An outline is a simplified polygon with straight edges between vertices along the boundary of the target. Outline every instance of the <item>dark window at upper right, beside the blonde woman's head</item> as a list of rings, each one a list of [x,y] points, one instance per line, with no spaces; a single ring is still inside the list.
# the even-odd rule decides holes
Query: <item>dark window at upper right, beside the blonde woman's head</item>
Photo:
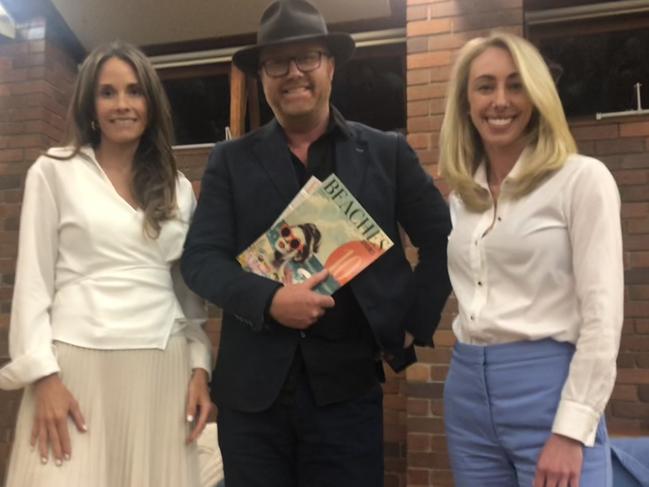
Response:
[[[526,0],[526,5],[534,7],[525,13],[527,36],[557,75],[568,116],[636,109],[636,83],[649,105],[649,2]]]

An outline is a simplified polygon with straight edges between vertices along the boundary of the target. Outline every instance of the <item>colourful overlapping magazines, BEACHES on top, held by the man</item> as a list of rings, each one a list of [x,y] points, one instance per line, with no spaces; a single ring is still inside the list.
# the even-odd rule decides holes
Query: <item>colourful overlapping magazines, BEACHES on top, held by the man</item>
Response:
[[[333,294],[394,243],[332,174],[311,178],[272,227],[237,260],[243,269],[284,284],[327,269],[315,290]]]

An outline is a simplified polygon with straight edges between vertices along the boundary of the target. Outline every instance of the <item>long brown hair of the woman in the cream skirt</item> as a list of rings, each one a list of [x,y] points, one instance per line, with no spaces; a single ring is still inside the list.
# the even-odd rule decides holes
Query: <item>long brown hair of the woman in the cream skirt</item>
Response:
[[[104,63],[111,58],[120,59],[133,68],[146,98],[147,127],[135,152],[131,184],[135,199],[144,211],[144,231],[151,238],[157,238],[161,223],[173,218],[176,212],[177,170],[171,149],[173,124],[160,78],[144,53],[135,46],[113,41],[95,48],[84,60],[67,117],[66,144],[73,151],[63,159],[78,155],[83,146],[99,145],[101,133],[95,113],[97,78]]]

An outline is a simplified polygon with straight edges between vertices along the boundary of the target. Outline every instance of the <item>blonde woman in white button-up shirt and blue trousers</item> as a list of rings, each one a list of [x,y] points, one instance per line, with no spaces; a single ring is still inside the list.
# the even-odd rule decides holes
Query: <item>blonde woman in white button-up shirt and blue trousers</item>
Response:
[[[620,199],[576,153],[539,52],[460,51],[440,136],[457,344],[445,422],[458,487],[611,485],[604,407],[623,320]]]

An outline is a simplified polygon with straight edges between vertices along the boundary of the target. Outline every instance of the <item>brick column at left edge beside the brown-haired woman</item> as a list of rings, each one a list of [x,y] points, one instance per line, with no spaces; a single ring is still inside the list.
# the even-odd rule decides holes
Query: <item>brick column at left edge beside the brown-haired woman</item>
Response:
[[[46,21],[18,26],[0,40],[0,364],[8,359],[20,202],[25,173],[42,150],[60,143],[76,72],[65,50],[46,36]],[[19,393],[0,391],[0,482]]]

